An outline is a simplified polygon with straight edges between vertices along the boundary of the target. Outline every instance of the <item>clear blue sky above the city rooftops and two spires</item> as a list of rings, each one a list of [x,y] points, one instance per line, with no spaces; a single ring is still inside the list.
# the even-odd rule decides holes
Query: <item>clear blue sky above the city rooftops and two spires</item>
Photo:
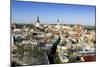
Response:
[[[37,16],[40,23],[56,24],[59,18],[61,24],[95,25],[95,6],[41,3],[12,2],[12,22],[35,23]]]

